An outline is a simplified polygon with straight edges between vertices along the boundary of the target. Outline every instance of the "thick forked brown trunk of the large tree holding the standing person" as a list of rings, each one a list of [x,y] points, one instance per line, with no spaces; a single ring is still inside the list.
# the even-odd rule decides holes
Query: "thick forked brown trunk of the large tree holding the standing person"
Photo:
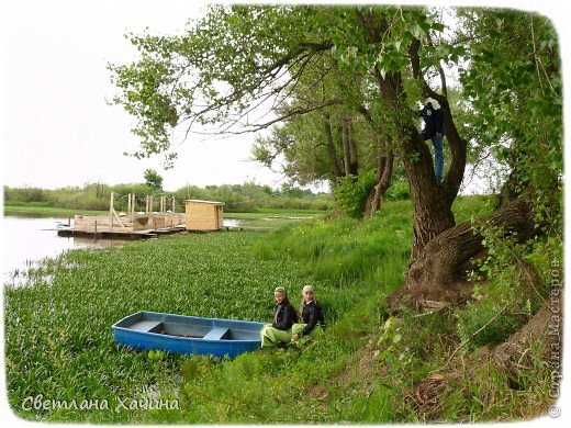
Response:
[[[380,34],[388,31],[389,23],[377,20],[373,14],[365,11],[358,16],[367,29],[370,42],[381,43]],[[411,294],[416,300],[441,300],[450,294],[449,300],[454,300],[452,296],[458,295],[456,290],[452,291],[454,285],[458,284],[458,270],[483,248],[481,238],[473,234],[470,224],[456,226],[451,207],[463,179],[468,142],[456,128],[446,97],[436,93],[424,80],[419,47],[418,40],[410,46],[412,72],[418,79],[423,94],[438,100],[445,111],[446,142],[450,147],[450,159],[446,159],[449,168],[441,187],[436,182],[433,156],[417,129],[416,120],[411,113],[406,117],[410,108],[405,102],[401,74],[381,74],[378,68],[373,70],[383,108],[400,114],[401,135],[393,137],[402,140],[399,156],[404,165],[414,209],[414,241],[408,271],[404,288],[395,296]],[[446,82],[443,81],[443,86],[445,88]],[[520,205],[516,203],[514,206],[502,210],[491,219],[514,230],[533,230],[527,204],[520,202]],[[525,233],[520,236],[525,236]]]

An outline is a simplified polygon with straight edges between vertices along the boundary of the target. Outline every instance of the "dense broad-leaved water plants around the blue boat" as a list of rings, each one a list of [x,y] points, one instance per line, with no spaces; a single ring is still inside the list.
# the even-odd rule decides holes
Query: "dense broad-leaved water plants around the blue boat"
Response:
[[[176,390],[188,358],[149,360],[114,343],[111,325],[137,311],[271,319],[276,285],[307,278],[291,260],[260,262],[249,246],[265,234],[181,235],[122,248],[70,251],[24,286],[4,289],[9,401],[25,418],[128,421],[137,412],[25,412],[27,396],[132,397],[142,387]],[[49,267],[48,267],[49,264]],[[141,410],[143,412],[143,410]]]

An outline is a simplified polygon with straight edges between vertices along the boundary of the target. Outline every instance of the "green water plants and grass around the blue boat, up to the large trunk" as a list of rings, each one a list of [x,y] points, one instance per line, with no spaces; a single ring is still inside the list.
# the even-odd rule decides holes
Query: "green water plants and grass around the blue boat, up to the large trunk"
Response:
[[[26,285],[7,284],[4,291],[13,410],[29,419],[92,423],[310,420],[295,412],[307,388],[338,394],[328,380],[350,364],[370,326],[379,323],[382,295],[402,281],[410,226],[392,223],[403,210],[405,205],[396,204],[385,217],[338,219],[333,226],[325,221],[293,223],[271,234],[161,237],[45,261]],[[258,351],[235,361],[199,363],[195,357],[122,348],[112,338],[114,322],[142,309],[270,320],[276,285],[291,290],[296,304],[310,282],[326,308],[329,328],[323,341],[299,353]],[[193,380],[195,364],[204,365],[200,383]],[[178,396],[180,410],[114,412],[117,399],[141,395],[149,386],[163,396]],[[105,398],[112,408],[23,409],[26,397],[40,394],[51,399]],[[315,420],[361,417],[349,402],[339,407],[310,401],[320,410]]]

